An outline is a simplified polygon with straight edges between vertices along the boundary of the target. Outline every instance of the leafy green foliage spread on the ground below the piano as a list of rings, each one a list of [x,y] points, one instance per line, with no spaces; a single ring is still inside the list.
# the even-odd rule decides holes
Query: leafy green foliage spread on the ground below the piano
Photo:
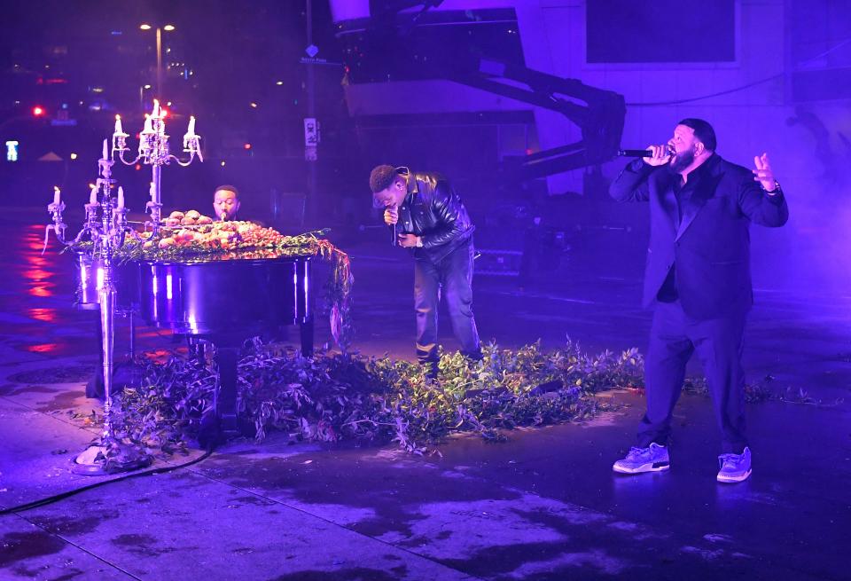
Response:
[[[394,441],[421,454],[457,432],[499,440],[511,428],[587,419],[602,409],[597,392],[641,385],[636,349],[590,357],[567,342],[483,351],[479,362],[442,353],[439,379],[429,381],[408,361],[307,358],[257,342],[238,363],[238,414],[258,441],[277,430],[307,441]],[[116,396],[116,435],[153,452],[185,448],[212,408],[215,369],[183,357],[144,365],[142,386]]]

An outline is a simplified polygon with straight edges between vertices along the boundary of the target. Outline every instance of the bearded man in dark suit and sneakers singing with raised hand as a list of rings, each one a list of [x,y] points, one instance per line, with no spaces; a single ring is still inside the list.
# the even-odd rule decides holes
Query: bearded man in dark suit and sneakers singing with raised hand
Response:
[[[670,467],[671,414],[697,352],[722,432],[717,480],[751,475],[745,433],[745,374],[741,367],[747,311],[753,303],[750,224],[782,226],[789,210],[766,153],[755,169],[715,153],[712,126],[679,122],[667,145],[621,172],[609,192],[619,201],[649,201],[651,240],[644,304],[655,305],[644,364],[647,412],[637,446],[614,463],[637,474]]]

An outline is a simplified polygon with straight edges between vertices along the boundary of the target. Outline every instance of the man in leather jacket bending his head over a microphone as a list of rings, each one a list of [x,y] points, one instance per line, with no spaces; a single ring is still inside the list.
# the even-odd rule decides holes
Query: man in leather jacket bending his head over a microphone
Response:
[[[449,181],[435,173],[412,173],[380,165],[370,175],[376,208],[394,227],[396,242],[414,257],[417,357],[437,376],[437,309],[441,288],[461,352],[481,358],[472,316],[472,231],[475,226]]]

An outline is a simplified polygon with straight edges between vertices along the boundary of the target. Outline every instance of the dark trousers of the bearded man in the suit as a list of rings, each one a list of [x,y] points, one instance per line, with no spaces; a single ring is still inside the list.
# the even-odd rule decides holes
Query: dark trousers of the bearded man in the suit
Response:
[[[745,373],[742,342],[746,312],[694,320],[679,301],[659,302],[653,313],[650,347],[644,362],[647,412],[638,428],[638,445],[668,445],[671,414],[683,389],[685,366],[697,353],[707,376],[722,451],[741,453],[745,435]]]

